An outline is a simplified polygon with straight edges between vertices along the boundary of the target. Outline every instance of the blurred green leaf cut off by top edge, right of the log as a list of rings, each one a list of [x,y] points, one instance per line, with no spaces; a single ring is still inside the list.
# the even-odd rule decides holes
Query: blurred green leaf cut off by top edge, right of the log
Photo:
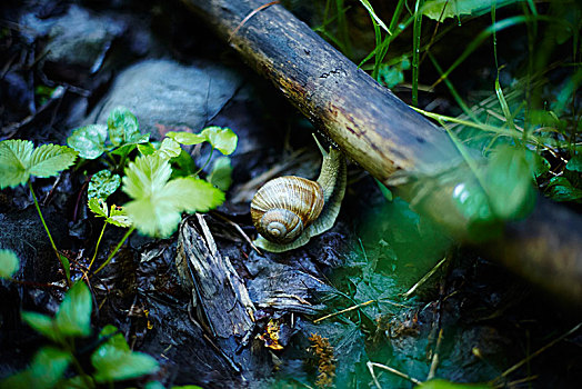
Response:
[[[499,9],[518,1],[519,0],[428,0],[422,7],[422,13],[433,20],[444,20],[446,18],[458,18],[461,14],[479,16],[489,12],[493,4]],[[445,8],[444,11],[443,8]]]

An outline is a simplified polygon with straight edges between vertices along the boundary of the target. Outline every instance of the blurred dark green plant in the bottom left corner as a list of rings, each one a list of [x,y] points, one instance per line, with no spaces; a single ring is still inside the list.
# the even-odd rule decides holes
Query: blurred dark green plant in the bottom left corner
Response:
[[[76,342],[91,336],[91,292],[79,281],[69,289],[54,318],[22,312],[22,320],[51,340],[53,346],[42,347],[28,369],[0,381],[0,387],[96,388],[97,383],[138,378],[159,369],[155,359],[131,351],[119,330],[106,326],[90,353],[92,370],[88,371],[81,363],[82,351]],[[71,367],[77,376],[67,373]]]

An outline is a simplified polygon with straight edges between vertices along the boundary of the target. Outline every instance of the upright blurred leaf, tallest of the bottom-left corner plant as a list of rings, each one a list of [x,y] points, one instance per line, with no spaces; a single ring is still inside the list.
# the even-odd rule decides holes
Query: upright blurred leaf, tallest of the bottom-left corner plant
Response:
[[[91,292],[84,282],[78,281],[67,292],[57,311],[54,321],[59,332],[66,337],[91,335]]]

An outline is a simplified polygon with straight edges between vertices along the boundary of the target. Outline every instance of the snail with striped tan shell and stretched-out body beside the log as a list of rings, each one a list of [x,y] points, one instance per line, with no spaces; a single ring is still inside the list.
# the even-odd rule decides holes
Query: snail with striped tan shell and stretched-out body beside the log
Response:
[[[317,142],[317,139],[315,139]],[[254,245],[272,252],[295,249],[333,227],[345,193],[345,159],[330,147],[317,181],[284,176],[268,181],[251,201],[251,218],[259,231]]]

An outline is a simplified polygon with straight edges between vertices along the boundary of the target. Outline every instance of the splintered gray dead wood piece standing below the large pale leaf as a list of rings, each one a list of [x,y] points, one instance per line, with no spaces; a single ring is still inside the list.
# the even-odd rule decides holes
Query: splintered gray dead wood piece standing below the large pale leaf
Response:
[[[254,306],[230,260],[218,251],[203,216],[189,217],[180,225],[175,265],[202,323],[213,336],[243,337],[251,330]]]

